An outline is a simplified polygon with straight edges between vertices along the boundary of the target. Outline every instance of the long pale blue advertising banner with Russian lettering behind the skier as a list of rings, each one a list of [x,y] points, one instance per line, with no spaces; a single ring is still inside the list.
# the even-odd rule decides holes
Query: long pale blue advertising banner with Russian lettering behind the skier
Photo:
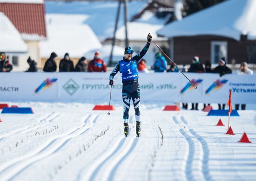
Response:
[[[256,103],[256,75],[186,73],[139,74],[141,101]],[[1,101],[108,101],[108,73],[0,73]],[[121,101],[121,75],[114,78],[112,99]]]

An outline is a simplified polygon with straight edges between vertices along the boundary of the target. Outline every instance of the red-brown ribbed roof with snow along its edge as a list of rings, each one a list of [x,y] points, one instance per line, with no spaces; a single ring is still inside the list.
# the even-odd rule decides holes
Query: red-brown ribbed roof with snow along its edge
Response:
[[[9,1],[6,3],[6,1]],[[0,0],[0,12],[4,12],[20,32],[24,40],[46,39],[45,9],[41,0]],[[24,3],[31,1],[31,3]],[[14,0],[13,0],[14,2]],[[37,2],[37,3],[35,3]]]

